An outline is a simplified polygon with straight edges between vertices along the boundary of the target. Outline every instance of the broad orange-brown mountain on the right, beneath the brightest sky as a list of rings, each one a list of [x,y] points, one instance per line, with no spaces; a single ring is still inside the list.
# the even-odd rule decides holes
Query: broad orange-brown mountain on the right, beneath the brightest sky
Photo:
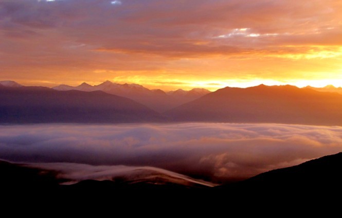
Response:
[[[342,96],[290,85],[226,87],[165,115],[174,121],[342,125]]]

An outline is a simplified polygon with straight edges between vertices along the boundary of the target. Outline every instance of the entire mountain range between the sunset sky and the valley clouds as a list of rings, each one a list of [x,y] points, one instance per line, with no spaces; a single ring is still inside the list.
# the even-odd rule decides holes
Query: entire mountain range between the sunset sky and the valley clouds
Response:
[[[0,122],[171,121],[342,125],[342,95],[291,85],[225,87],[206,95],[206,89],[178,89],[165,93],[137,84],[120,85],[109,81],[97,86],[83,83],[76,87],[78,90],[65,85],[51,89],[3,81],[0,82],[0,89]],[[172,108],[175,102],[179,104],[195,97],[195,100]],[[157,113],[151,109],[155,107],[153,105],[161,105],[163,110],[168,110]]]

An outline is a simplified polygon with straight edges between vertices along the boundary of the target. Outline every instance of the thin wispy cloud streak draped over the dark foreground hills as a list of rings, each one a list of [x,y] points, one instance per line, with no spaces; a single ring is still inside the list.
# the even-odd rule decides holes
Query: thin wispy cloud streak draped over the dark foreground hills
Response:
[[[67,178],[64,185],[75,184],[86,179],[120,180],[127,183],[146,181],[150,184],[176,183],[183,186],[202,185],[213,187],[217,184],[201,179],[155,167],[128,167],[128,166],[92,166],[82,163],[29,163],[29,166],[54,170],[59,172],[59,178]]]

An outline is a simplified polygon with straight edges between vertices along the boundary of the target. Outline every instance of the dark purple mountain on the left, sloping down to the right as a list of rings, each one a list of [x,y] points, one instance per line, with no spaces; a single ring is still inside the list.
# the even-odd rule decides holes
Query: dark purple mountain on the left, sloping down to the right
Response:
[[[123,123],[163,118],[131,99],[95,92],[60,92],[45,87],[0,89],[0,122]]]

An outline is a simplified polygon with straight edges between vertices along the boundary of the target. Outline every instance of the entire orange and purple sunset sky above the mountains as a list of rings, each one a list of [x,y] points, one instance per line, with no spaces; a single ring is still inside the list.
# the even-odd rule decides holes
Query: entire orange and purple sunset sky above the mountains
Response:
[[[342,2],[0,0],[0,80],[342,86]]]

